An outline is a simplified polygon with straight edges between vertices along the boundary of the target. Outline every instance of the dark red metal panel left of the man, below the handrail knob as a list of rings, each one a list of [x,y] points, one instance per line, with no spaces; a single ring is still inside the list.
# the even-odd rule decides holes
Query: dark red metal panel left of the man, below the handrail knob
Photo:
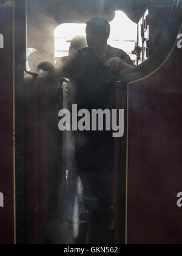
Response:
[[[27,243],[43,243],[48,218],[49,81],[25,79],[25,232]]]

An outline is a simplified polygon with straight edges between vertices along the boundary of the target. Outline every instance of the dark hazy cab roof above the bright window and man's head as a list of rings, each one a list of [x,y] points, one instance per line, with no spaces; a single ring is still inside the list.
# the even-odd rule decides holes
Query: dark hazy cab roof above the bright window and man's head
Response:
[[[173,0],[28,0],[28,11],[48,12],[58,24],[83,23],[93,16],[113,20],[115,10],[122,10],[138,23],[149,5],[171,5]]]

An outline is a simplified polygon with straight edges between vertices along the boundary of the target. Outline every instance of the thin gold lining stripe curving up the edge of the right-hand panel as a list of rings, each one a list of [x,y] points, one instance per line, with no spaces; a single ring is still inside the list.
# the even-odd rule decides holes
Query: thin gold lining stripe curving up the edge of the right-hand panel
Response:
[[[178,34],[180,34],[181,32],[181,29],[182,29],[182,23],[181,23],[181,26],[180,26],[180,30],[178,32]],[[172,54],[172,52],[174,52],[174,49],[175,47],[177,46],[177,41],[178,39],[175,40],[175,44],[172,48],[172,50],[169,52],[169,54],[167,55],[166,59],[164,60],[164,62],[158,66],[157,69],[155,69],[152,73],[148,74],[147,76],[145,77],[142,77],[141,79],[138,79],[138,80],[134,80],[132,82],[129,82],[127,84],[127,146],[126,146],[126,238],[125,238],[125,241],[126,241],[126,244],[127,244],[127,198],[128,198],[128,163],[129,163],[129,157],[128,157],[128,153],[129,153],[129,147],[128,147],[128,144],[129,144],[129,85],[130,84],[134,84],[136,82],[140,82],[141,80],[144,80],[144,79],[147,79],[148,77],[152,76],[153,74],[155,74],[166,62],[167,60],[169,59],[170,55]]]

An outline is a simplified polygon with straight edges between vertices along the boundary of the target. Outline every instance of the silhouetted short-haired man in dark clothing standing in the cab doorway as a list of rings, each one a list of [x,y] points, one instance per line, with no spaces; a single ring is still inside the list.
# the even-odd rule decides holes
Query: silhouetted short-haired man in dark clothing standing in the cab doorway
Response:
[[[64,65],[41,63],[39,68],[52,76],[64,76],[76,84],[75,104],[78,110],[112,110],[115,108],[115,82],[124,69],[134,66],[126,52],[107,45],[110,24],[103,18],[92,18],[86,27],[88,48],[74,52]],[[92,121],[92,120],[90,120]],[[84,187],[86,213],[91,216],[109,213],[113,201],[112,168],[114,138],[111,131],[76,132],[76,162]]]

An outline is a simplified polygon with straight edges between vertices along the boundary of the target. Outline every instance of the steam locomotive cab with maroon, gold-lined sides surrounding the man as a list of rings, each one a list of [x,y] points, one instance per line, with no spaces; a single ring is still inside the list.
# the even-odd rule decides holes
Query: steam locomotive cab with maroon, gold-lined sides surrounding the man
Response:
[[[12,161],[4,168],[14,170],[2,179],[6,186],[0,180],[0,213],[10,219],[9,226],[2,225],[8,231],[5,238],[0,235],[0,243],[179,241],[182,222],[175,194],[182,162],[174,152],[182,150],[181,52],[175,47],[181,12],[182,1],[175,0],[138,5],[124,0],[0,1],[1,109],[12,106],[6,125],[13,134],[13,141],[2,136],[8,144],[4,159],[9,155]],[[86,21],[94,16],[106,18],[113,31],[109,44],[124,48],[135,64],[115,81],[124,135],[115,139],[113,151],[112,214],[96,225],[79,220],[87,209],[76,171],[75,136],[58,129],[58,112],[71,109],[76,85],[36,69],[42,61],[55,65],[67,57],[73,38],[86,37]],[[4,30],[7,19],[10,29]],[[4,134],[6,128],[1,128]]]

